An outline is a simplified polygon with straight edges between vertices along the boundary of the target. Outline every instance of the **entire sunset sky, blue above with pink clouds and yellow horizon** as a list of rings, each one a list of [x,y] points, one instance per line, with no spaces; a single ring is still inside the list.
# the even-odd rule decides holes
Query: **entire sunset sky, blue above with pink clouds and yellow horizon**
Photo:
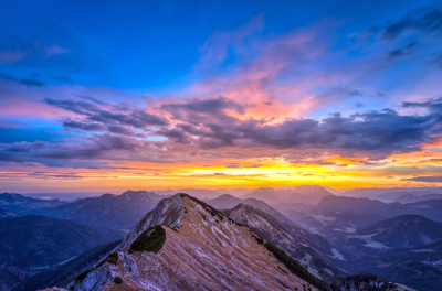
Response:
[[[9,1],[0,192],[442,186],[441,1]]]

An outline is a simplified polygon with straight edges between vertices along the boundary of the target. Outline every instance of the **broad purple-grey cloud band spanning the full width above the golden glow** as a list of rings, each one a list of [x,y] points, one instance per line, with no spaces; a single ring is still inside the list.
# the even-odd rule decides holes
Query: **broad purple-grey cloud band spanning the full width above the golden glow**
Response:
[[[169,163],[211,159],[207,157],[219,159],[223,155],[282,157],[292,163],[328,165],[336,163],[324,161],[325,152],[328,155],[366,155],[373,162],[394,152],[418,150],[422,143],[431,142],[442,133],[442,98],[402,104],[403,108],[425,109],[421,115],[400,115],[392,109],[383,109],[347,117],[333,114],[322,120],[293,118],[267,123],[265,120],[236,117],[239,112],[244,112],[244,107],[220,97],[161,106],[161,110],[172,115],[173,122],[164,120],[161,123],[169,126],[156,129],[148,128],[151,123],[137,115],[139,111],[151,115],[139,107],[102,105],[90,97],[45,101],[83,116],[64,119],[65,128],[104,133],[90,133],[82,140],[64,143],[1,143],[1,161],[41,162],[59,166],[61,161],[66,160],[70,161],[66,164],[80,160],[91,163],[99,160]],[[141,133],[145,128],[149,130],[149,136],[166,139],[140,139],[146,138]],[[221,148],[222,151],[219,151]],[[201,153],[193,154],[198,150],[202,150]],[[204,151],[211,153],[204,154]],[[240,165],[229,163],[225,166]]]

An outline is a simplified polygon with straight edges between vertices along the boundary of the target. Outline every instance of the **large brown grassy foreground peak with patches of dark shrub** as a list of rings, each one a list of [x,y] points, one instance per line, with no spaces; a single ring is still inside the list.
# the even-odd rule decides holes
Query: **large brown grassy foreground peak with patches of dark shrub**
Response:
[[[281,249],[187,194],[162,200],[116,250],[69,288],[329,290]]]

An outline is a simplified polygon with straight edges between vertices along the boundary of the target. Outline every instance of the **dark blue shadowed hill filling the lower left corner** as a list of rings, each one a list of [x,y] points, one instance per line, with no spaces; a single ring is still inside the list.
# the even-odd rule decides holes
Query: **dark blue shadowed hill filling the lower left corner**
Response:
[[[35,270],[61,263],[123,233],[44,216],[0,220],[0,289],[9,290]]]

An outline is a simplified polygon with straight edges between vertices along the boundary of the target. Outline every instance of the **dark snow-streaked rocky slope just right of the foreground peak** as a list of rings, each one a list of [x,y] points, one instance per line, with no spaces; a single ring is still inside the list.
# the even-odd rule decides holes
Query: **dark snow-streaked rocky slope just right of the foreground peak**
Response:
[[[346,273],[336,266],[347,267],[348,259],[324,237],[282,224],[271,215],[244,204],[239,204],[227,214],[301,261],[317,277],[330,279]]]

